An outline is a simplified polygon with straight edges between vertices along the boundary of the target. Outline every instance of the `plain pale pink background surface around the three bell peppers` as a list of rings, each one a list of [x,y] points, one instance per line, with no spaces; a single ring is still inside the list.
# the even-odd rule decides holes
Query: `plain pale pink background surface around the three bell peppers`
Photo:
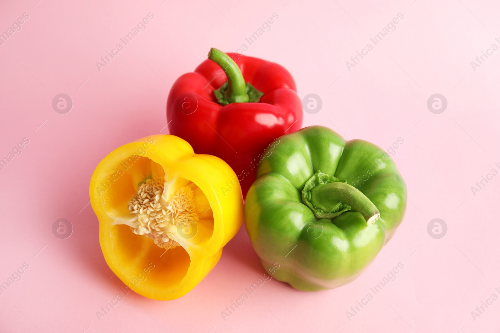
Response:
[[[0,283],[23,263],[29,269],[0,295],[0,331],[498,330],[500,301],[475,321],[470,312],[500,296],[500,176],[475,196],[470,187],[500,170],[500,50],[475,71],[470,62],[500,45],[500,5],[412,1],[2,1],[0,32],[24,12],[29,18],[0,46],[0,158],[25,137],[29,144],[0,170]],[[146,30],[99,71],[95,62],[149,12]],[[322,109],[304,113],[304,126],[323,124],[384,149],[404,140],[393,156],[408,188],[401,226],[349,285],[305,293],[272,280],[224,321],[221,311],[265,273],[242,228],[189,294],[159,302],[131,293],[99,321],[95,312],[123,284],[104,262],[87,205],[94,167],[122,144],[166,134],[174,80],[212,46],[248,46],[245,38],[274,12],[279,18],[244,54],[286,67],[300,98],[320,96]],[[399,12],[396,29],[349,71],[345,62]],[[71,97],[69,113],[52,109],[59,93]],[[427,109],[434,93],[448,101],[443,113]],[[51,231],[59,218],[74,228],[64,240]],[[427,234],[434,218],[447,224],[441,239]],[[396,280],[349,321],[346,311],[398,263]]]

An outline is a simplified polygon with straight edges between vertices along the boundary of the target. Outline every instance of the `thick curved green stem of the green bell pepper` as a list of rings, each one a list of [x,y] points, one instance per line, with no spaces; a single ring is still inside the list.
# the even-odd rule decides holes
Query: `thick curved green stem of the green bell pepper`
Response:
[[[314,207],[327,206],[331,199],[340,200],[348,204],[351,208],[358,211],[366,220],[366,223],[372,225],[380,217],[380,212],[361,191],[355,187],[335,182],[329,184],[317,185],[311,190],[311,203]]]

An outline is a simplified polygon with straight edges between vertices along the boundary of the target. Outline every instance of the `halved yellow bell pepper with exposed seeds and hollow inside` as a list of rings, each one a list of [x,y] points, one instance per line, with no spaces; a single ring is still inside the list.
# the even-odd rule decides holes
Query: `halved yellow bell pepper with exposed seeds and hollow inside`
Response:
[[[173,135],[113,150],[95,168],[89,192],[109,268],[127,289],[154,300],[193,289],[243,219],[232,169]]]

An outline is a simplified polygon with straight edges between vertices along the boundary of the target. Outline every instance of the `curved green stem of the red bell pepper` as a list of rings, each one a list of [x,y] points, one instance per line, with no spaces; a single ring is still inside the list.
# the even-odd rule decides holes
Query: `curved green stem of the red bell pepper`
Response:
[[[224,52],[211,48],[208,52],[208,59],[220,66],[227,76],[228,87],[224,97],[229,103],[245,103],[249,97],[246,93],[246,84],[238,65]]]

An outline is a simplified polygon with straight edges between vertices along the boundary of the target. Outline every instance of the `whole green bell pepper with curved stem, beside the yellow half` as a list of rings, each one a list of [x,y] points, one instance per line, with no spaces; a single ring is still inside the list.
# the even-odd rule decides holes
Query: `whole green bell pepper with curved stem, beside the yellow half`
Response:
[[[356,279],[404,215],[406,186],[392,159],[369,142],[345,142],[322,126],[282,136],[268,149],[244,207],[263,267],[277,262],[273,277],[304,291]]]

